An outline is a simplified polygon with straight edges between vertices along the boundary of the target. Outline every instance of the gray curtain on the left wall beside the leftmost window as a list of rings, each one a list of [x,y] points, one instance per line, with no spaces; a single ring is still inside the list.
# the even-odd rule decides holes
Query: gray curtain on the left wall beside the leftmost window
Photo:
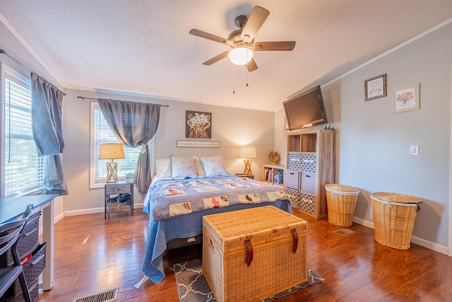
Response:
[[[60,153],[64,149],[61,108],[64,93],[34,72],[31,75],[32,133],[38,156],[46,167],[44,186],[47,194],[68,194]]]

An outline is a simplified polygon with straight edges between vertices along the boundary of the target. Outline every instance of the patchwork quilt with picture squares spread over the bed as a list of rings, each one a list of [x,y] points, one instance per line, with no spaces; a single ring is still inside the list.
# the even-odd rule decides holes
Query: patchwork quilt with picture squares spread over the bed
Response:
[[[289,197],[283,189],[270,182],[230,175],[219,178],[159,180],[150,188],[149,206],[154,221],[162,221],[205,209],[284,199]]]

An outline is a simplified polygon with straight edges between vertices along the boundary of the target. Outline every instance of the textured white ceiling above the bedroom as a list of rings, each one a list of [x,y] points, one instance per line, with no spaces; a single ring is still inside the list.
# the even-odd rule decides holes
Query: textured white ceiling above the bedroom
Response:
[[[255,52],[250,73],[227,58],[203,65],[230,48],[189,30],[227,37],[234,18],[256,5],[270,11],[256,41],[295,40],[295,49]],[[268,111],[452,17],[450,0],[0,0],[0,7],[0,20],[66,88]],[[8,52],[1,39],[0,48]]]

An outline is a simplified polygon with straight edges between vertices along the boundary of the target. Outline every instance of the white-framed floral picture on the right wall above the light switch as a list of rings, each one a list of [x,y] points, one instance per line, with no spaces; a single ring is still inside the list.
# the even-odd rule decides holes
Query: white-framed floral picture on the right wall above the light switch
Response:
[[[420,110],[420,83],[394,89],[391,109],[393,113]]]

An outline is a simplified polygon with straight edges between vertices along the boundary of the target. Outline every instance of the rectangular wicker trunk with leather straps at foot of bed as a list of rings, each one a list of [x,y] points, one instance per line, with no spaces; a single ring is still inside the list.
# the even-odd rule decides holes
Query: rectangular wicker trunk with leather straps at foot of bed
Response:
[[[273,206],[203,216],[203,274],[218,302],[261,301],[307,281],[306,247],[307,221]]]

